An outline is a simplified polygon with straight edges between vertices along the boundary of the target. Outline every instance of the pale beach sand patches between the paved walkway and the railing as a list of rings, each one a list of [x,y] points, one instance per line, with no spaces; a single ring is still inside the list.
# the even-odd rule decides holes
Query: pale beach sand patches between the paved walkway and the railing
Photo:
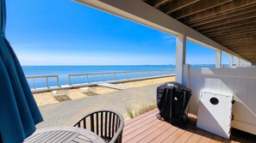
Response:
[[[148,85],[153,85],[153,84],[158,84],[158,83],[165,83],[165,82],[168,82],[171,80],[175,80],[175,76],[156,78],[156,79],[150,79],[150,80],[128,81],[128,82],[124,82],[124,83],[119,83],[117,85],[128,86],[128,87],[140,87],[140,86],[148,86]],[[94,86],[91,88],[94,88],[94,91],[96,91],[96,92],[85,92],[84,93],[84,92],[81,92],[78,88],[70,89],[70,90],[68,90],[68,98],[73,100],[73,99],[77,99],[77,98],[87,98],[87,97],[90,97],[90,96],[93,96],[96,94],[104,94],[104,93],[108,93],[108,92],[118,91],[116,89],[103,87],[103,86]],[[53,98],[52,92],[35,93],[34,99],[39,106],[44,105],[44,104],[59,103],[58,100]]]

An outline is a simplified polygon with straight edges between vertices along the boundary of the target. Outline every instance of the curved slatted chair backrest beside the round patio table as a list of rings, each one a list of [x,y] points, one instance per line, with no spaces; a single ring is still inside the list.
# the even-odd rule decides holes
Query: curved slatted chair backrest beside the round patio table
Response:
[[[110,143],[122,143],[122,128],[124,120],[120,113],[114,110],[98,110],[84,116],[74,127],[86,128],[101,136]]]

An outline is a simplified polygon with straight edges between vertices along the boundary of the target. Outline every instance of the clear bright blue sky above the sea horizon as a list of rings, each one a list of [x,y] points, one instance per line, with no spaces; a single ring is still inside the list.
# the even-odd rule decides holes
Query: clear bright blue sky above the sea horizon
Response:
[[[175,37],[71,0],[8,0],[9,39],[22,65],[174,64]],[[215,51],[187,42],[187,63]],[[228,63],[228,56],[223,57]]]

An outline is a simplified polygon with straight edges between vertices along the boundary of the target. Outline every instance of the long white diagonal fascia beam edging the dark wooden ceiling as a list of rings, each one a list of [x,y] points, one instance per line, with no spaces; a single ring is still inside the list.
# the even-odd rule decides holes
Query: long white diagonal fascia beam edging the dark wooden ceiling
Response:
[[[152,6],[140,0],[74,0],[78,3],[83,3],[95,9],[103,10],[109,14],[117,15],[130,21],[138,22],[147,27],[158,29],[159,31],[170,33],[172,35],[184,34],[187,39],[199,45],[209,47],[214,50],[219,50],[239,57],[247,61],[246,58],[241,57],[234,51],[227,47],[216,43],[209,39],[202,33],[184,25],[169,15],[154,9]]]

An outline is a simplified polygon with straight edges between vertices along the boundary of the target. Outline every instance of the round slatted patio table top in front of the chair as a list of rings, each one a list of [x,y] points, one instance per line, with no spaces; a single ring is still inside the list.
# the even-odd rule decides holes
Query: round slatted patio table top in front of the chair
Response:
[[[42,128],[30,135],[27,142],[83,142],[83,143],[104,143],[103,139],[95,133],[75,127]]]

